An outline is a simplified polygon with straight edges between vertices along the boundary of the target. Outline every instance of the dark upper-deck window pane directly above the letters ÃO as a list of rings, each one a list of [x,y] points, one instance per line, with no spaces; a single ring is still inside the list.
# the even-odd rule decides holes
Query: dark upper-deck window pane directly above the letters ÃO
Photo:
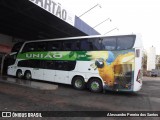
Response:
[[[50,41],[47,44],[48,44],[48,51],[61,50],[61,41],[60,42]]]

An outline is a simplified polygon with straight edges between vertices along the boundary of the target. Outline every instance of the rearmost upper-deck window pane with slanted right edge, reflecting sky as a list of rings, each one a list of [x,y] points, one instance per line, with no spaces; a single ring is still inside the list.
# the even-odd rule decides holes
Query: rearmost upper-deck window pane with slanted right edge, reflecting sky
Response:
[[[117,38],[117,50],[131,49],[134,45],[135,37],[125,36]]]

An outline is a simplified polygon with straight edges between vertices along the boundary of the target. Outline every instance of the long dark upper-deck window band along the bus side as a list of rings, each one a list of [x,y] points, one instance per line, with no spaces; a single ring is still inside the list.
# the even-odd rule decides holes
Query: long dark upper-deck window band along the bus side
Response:
[[[22,52],[127,50],[133,48],[135,38],[135,35],[124,35],[63,41],[30,42],[24,45]]]

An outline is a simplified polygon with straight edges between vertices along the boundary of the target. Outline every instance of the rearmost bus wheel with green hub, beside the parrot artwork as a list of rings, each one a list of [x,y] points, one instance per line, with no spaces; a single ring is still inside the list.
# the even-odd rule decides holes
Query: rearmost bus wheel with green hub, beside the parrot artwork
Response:
[[[98,78],[93,78],[88,82],[88,88],[91,92],[101,92],[103,89],[102,82]]]

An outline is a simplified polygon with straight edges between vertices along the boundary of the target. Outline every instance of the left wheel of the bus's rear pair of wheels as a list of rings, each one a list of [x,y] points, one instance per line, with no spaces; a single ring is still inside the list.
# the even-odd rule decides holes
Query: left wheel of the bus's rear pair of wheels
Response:
[[[73,78],[72,85],[75,89],[83,90],[85,88],[85,82],[83,77]]]

